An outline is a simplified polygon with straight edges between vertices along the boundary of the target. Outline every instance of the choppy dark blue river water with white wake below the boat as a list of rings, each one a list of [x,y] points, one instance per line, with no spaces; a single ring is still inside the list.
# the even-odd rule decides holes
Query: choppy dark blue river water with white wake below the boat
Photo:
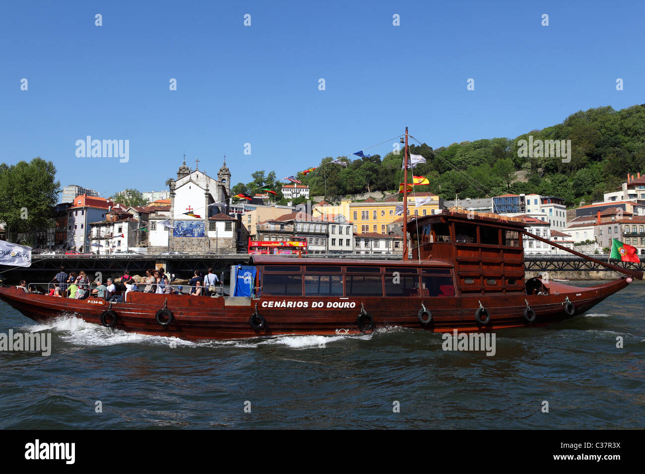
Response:
[[[0,302],[1,332],[54,346],[0,351],[0,428],[644,428],[644,295],[637,282],[569,321],[499,331],[493,357],[400,328],[185,342],[35,324]]]

